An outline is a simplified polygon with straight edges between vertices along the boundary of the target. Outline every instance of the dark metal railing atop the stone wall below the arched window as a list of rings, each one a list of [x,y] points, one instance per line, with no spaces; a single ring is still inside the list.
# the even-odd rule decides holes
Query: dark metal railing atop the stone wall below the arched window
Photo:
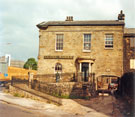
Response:
[[[35,75],[34,79],[36,79],[38,81],[46,82],[46,83],[95,82],[95,73],[89,73],[89,74],[84,74],[84,73],[44,74],[44,75]]]

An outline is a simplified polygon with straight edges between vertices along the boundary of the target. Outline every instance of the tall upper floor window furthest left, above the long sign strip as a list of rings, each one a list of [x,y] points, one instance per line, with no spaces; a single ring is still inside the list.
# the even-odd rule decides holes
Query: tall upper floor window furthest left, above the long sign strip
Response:
[[[63,34],[57,34],[56,35],[56,51],[62,51],[63,50]]]

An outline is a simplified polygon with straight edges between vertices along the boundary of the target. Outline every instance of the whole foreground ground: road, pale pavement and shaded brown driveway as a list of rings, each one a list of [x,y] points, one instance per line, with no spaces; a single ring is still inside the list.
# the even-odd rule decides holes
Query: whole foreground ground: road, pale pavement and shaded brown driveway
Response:
[[[0,117],[83,117],[82,115],[85,117],[124,117],[124,115],[130,117],[131,115],[128,108],[125,108],[127,105],[121,99],[111,95],[99,96],[90,100],[65,99],[62,106],[56,106],[13,97],[3,93],[3,89],[4,87],[0,87]],[[13,102],[14,104],[11,104]],[[31,108],[33,107],[31,105],[36,108]]]

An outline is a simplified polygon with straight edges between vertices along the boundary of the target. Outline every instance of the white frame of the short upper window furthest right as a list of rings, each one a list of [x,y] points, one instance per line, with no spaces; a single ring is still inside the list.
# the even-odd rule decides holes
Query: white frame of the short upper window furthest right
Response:
[[[111,35],[112,38],[107,38],[108,35]],[[108,39],[108,40],[107,40]],[[110,40],[109,40],[110,39]],[[112,40],[111,40],[112,39]],[[106,44],[106,42],[110,42],[110,44]],[[112,43],[111,43],[112,42]],[[106,47],[106,46],[112,46],[112,47]],[[104,40],[104,47],[105,49],[113,49],[114,48],[114,35],[113,34],[105,34],[105,40]]]

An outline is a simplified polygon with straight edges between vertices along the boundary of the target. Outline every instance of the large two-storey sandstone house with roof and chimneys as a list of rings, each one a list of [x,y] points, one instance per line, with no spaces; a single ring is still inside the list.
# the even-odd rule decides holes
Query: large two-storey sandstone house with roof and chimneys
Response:
[[[124,14],[117,20],[48,21],[39,28],[38,75],[82,73],[123,74]]]

